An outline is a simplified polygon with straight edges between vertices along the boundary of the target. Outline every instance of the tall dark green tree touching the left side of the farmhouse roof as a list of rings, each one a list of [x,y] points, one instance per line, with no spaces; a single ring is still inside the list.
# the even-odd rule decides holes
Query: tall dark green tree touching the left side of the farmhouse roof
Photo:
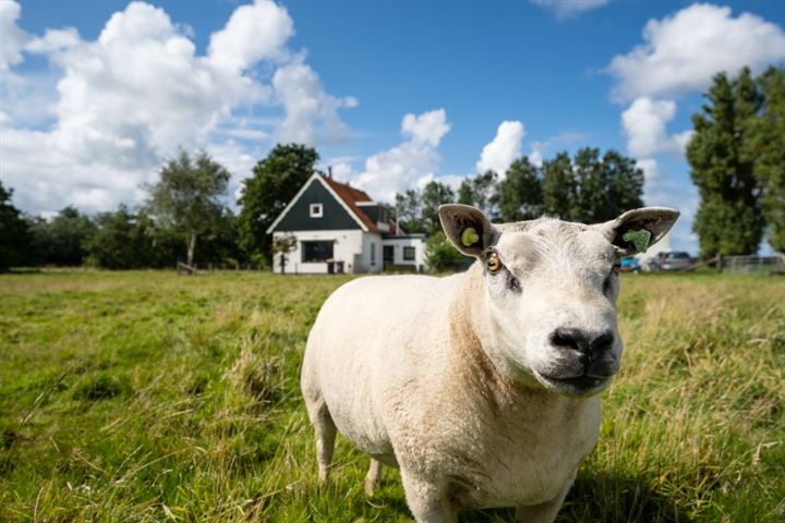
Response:
[[[249,256],[273,256],[267,228],[316,172],[318,154],[312,147],[276,145],[253,169],[253,177],[243,181],[242,206],[238,217],[240,246]]]

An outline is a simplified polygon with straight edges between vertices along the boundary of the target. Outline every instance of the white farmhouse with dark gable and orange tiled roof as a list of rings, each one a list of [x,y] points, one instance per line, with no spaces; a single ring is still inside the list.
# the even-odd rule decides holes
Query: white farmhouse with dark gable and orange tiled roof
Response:
[[[425,235],[396,230],[395,209],[363,191],[319,173],[311,177],[267,229],[279,238],[292,234],[294,251],[273,258],[275,272],[421,271]]]

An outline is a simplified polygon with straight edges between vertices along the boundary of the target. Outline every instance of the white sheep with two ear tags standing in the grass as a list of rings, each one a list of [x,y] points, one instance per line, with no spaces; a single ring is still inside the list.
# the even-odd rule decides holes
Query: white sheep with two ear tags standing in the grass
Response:
[[[400,467],[419,522],[456,522],[463,507],[552,522],[619,365],[615,263],[677,217],[649,207],[595,226],[492,224],[473,207],[442,206],[447,236],[479,262],[446,278],[353,280],[311,330],[301,386],[319,479],[338,429],[372,458],[369,494],[382,463]]]

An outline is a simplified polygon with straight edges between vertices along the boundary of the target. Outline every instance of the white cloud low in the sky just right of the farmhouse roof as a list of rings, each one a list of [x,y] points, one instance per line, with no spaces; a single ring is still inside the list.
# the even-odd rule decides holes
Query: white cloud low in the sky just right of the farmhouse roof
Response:
[[[435,178],[436,148],[450,125],[444,109],[404,115],[401,134],[408,139],[366,159],[365,171],[352,183],[382,202],[394,202],[396,193],[423,186]]]

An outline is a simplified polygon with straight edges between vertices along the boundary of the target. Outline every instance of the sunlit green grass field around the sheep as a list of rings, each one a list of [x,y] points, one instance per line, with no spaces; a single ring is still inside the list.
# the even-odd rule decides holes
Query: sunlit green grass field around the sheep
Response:
[[[0,277],[0,521],[410,521],[346,441],[317,487],[298,374],[343,277]],[[785,516],[785,279],[625,276],[623,370],[559,522]],[[506,510],[464,522],[511,521]]]

